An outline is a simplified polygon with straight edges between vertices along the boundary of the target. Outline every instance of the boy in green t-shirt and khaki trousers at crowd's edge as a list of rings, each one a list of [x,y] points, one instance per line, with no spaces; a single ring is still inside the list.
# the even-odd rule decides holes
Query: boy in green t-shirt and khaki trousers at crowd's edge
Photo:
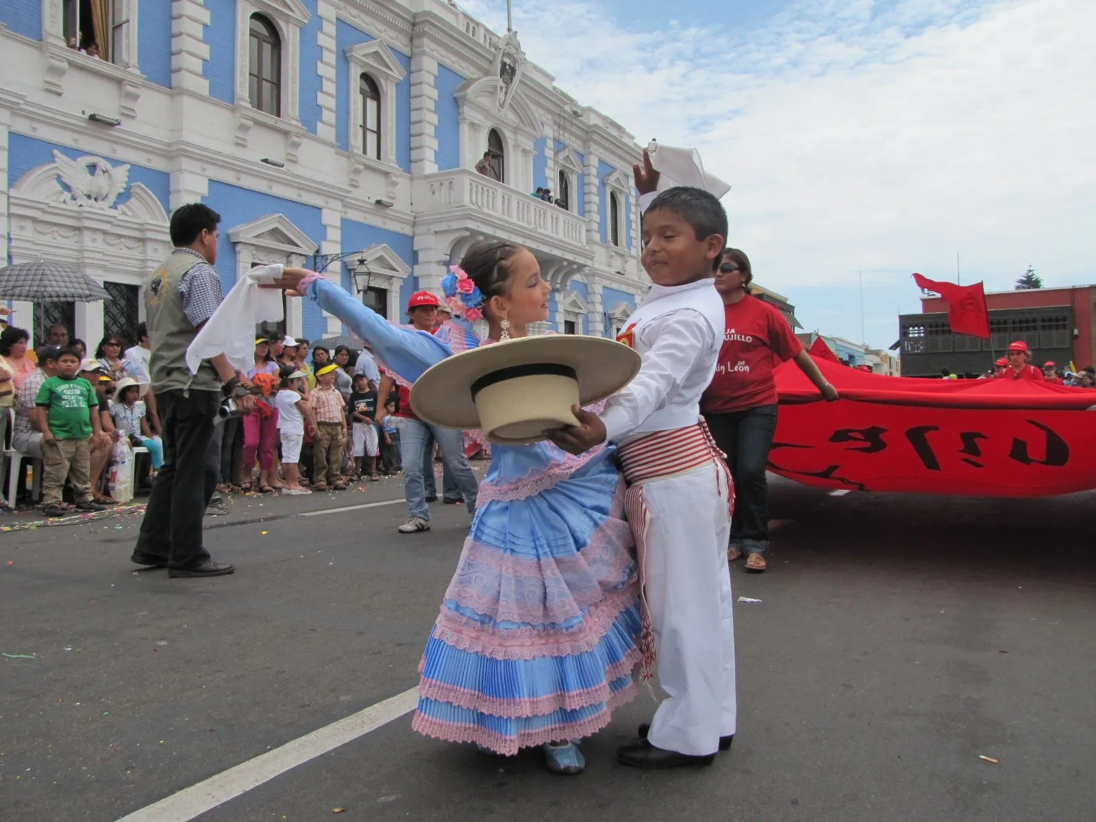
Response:
[[[105,511],[91,495],[91,438],[104,436],[99,421],[99,397],[91,383],[77,376],[80,358],[71,349],[57,355],[58,373],[38,389],[36,427],[42,432],[45,470],[42,506],[46,516],[61,516],[61,490],[71,479],[78,511]]]

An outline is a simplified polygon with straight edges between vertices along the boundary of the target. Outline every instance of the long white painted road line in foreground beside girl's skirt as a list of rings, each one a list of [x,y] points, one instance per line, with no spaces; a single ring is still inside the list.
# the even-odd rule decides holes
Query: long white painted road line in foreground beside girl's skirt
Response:
[[[402,502],[402,500],[399,500]],[[373,503],[380,505],[385,503]],[[365,507],[355,505],[354,507]],[[349,510],[349,509],[343,509]],[[326,512],[317,512],[326,513]],[[286,770],[302,765],[309,760],[333,751],[340,745],[364,737],[393,719],[413,710],[419,700],[419,689],[411,688],[365,710],[352,713],[345,719],[306,733],[299,739],[286,742],[281,747],[260,754],[253,760],[212,776],[197,785],[172,794],[159,802],[134,811],[118,822],[189,822],[213,810],[219,804],[258,788],[263,783],[281,776]]]

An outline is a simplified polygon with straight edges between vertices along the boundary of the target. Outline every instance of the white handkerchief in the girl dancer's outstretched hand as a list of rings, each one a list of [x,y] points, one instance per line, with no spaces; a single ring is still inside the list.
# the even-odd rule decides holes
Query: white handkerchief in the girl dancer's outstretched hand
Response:
[[[284,312],[277,288],[260,288],[282,276],[281,264],[256,265],[232,286],[213,317],[186,349],[186,366],[197,374],[203,359],[225,354],[236,368],[247,370],[254,362],[255,326],[279,322]]]

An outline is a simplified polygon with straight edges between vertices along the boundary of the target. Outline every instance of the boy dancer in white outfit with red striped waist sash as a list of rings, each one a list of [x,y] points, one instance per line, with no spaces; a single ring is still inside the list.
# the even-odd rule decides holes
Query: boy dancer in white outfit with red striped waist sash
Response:
[[[675,187],[650,203],[642,230],[654,285],[617,338],[642,355],[642,368],[601,416],[576,408],[580,425],[550,437],[572,454],[617,443],[629,483],[659,681],[670,696],[617,758],[649,768],[707,765],[735,730],[727,566],[733,489],[699,406],[723,343],[712,273],[727,215],[708,192]]]

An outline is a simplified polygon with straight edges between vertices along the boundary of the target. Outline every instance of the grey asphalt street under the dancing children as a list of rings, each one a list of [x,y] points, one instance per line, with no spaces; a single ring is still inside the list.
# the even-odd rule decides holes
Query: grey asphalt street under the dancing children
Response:
[[[139,515],[0,534],[0,820],[118,820],[406,695],[470,517],[400,535],[401,498],[238,496],[206,521],[237,564],[212,580],[130,564]],[[772,509],[769,572],[732,571],[761,602],[735,604],[739,732],[711,767],[616,764],[647,690],[573,778],[404,713],[196,818],[1096,819],[1096,495],[774,480]]]

